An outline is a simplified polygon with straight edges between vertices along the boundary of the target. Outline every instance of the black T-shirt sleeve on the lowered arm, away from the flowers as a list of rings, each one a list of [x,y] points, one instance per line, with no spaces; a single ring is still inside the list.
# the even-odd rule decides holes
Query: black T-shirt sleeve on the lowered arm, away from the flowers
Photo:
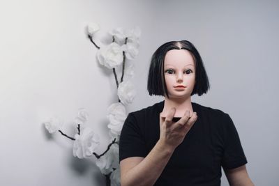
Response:
[[[222,158],[223,169],[234,169],[247,163],[241,146],[239,134],[228,114],[223,117],[224,153]]]

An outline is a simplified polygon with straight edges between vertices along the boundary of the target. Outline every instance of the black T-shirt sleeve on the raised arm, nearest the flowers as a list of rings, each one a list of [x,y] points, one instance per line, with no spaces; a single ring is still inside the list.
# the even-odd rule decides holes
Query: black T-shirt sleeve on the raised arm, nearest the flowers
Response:
[[[146,156],[146,144],[138,122],[142,121],[137,121],[133,114],[128,114],[119,139],[119,162],[127,157]]]

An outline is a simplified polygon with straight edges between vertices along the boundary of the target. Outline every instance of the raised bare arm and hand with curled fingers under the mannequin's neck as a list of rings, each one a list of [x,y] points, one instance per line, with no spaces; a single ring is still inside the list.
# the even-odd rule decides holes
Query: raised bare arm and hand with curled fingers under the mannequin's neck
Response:
[[[181,144],[187,132],[197,120],[190,112],[176,123],[172,122],[175,109],[165,120],[160,117],[160,139],[146,157],[128,157],[120,162],[121,185],[154,185],[163,172],[176,146]]]

